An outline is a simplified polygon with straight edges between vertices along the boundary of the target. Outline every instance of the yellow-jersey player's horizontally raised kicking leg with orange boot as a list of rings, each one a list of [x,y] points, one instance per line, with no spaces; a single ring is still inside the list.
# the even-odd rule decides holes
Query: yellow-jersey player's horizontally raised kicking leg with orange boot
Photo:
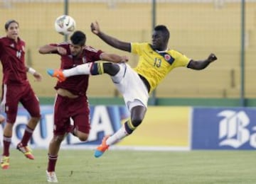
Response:
[[[80,64],[72,69],[48,69],[47,73],[50,76],[58,78],[59,81],[65,81],[69,76],[75,75],[100,75],[109,74],[114,76],[119,71],[119,64],[114,64],[111,62],[90,62],[85,64]]]

